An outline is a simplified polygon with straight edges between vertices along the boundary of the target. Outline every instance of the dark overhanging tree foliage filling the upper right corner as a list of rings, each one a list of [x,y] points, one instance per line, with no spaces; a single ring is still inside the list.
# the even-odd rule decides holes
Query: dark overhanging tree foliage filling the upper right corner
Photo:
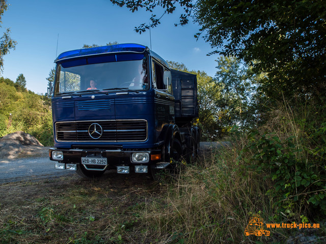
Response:
[[[266,72],[270,97],[325,92],[324,1],[198,1],[195,20],[212,47]],[[227,11],[226,11],[227,10]],[[256,62],[254,62],[256,61]],[[320,90],[321,89],[321,90]]]

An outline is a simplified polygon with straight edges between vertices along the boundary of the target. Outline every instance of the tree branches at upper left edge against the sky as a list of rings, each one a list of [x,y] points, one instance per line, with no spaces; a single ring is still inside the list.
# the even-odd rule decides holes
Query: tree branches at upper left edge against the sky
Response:
[[[2,27],[2,16],[7,9],[7,2],[5,0],[0,0],[0,27]],[[0,38],[0,71],[3,71],[4,56],[9,53],[10,49],[15,49],[16,44],[17,42],[10,38],[10,29],[7,28]]]

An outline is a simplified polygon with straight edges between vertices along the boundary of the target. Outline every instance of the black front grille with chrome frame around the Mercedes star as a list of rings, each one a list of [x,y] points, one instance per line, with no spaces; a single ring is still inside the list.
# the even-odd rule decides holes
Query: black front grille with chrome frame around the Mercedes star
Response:
[[[89,134],[89,128],[93,123],[102,128],[102,135],[98,139],[93,139]],[[118,119],[57,122],[56,135],[58,141],[145,141],[147,121]]]

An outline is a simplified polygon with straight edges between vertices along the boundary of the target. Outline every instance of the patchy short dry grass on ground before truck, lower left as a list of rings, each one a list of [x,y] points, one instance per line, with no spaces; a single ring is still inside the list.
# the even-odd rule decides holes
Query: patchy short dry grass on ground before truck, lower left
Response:
[[[146,228],[133,209],[157,195],[155,186],[116,174],[2,185],[0,243],[137,243]]]

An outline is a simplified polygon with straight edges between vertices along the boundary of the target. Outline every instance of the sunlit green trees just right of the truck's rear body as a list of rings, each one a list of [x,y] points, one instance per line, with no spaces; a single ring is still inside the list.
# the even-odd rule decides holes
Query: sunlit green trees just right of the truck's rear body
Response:
[[[239,59],[220,56],[215,77],[204,71],[189,71],[182,63],[168,61],[170,68],[197,75],[199,118],[203,139],[229,134],[234,125],[252,127],[256,122],[255,82],[259,80]]]

